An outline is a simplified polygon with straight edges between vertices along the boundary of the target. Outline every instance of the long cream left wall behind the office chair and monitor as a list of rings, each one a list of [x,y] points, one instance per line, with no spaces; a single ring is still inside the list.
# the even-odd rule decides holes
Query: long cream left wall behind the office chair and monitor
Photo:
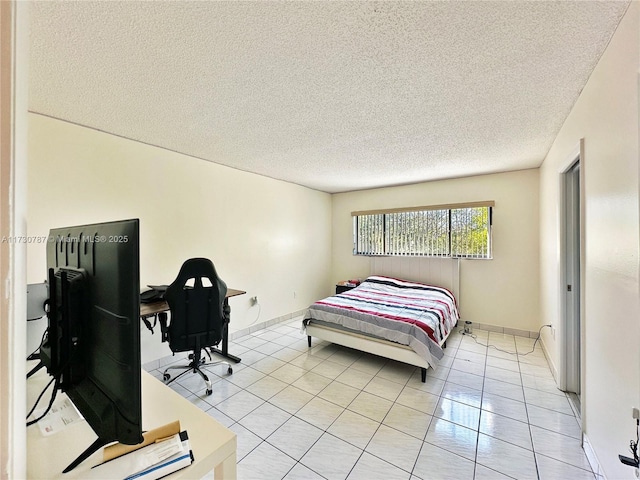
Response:
[[[29,116],[28,234],[139,218],[142,286],[210,258],[230,288],[231,331],[306,308],[329,284],[331,196],[40,115]],[[30,245],[29,283],[44,281]],[[261,308],[250,305],[258,296]],[[259,314],[259,318],[258,318]],[[143,362],[170,354],[143,329]]]

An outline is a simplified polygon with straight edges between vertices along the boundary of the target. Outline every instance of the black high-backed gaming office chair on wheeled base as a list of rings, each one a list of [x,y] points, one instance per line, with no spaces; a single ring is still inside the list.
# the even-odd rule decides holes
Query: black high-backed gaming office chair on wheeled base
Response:
[[[193,371],[202,377],[207,384],[207,395],[211,395],[211,381],[201,367],[226,364],[227,373],[233,373],[228,362],[206,363],[202,358],[204,350],[211,360],[207,347],[216,346],[222,340],[223,327],[228,321],[224,310],[226,293],[227,285],[218,277],[211,260],[191,258],[182,264],[178,277],[169,285],[164,295],[171,312],[171,320],[165,333],[174,354],[187,351],[192,353],[189,355],[188,365],[172,365],[164,371],[163,378],[167,385]],[[172,369],[185,371],[171,378],[168,371]]]

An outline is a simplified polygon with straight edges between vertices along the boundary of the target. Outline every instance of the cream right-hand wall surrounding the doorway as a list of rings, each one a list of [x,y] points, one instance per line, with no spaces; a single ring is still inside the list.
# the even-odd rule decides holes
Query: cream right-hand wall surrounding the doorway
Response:
[[[634,478],[617,455],[629,455],[640,405],[639,17],[633,2],[540,170],[541,316],[559,325],[559,175],[584,138],[583,427],[608,478]],[[557,339],[543,336],[556,368]]]

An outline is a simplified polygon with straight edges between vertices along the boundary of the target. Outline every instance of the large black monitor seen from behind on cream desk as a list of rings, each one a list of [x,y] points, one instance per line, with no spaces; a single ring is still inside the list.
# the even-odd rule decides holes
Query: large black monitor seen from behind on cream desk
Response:
[[[40,359],[98,436],[68,472],[107,443],[143,440],[139,220],[49,235],[49,325]]]

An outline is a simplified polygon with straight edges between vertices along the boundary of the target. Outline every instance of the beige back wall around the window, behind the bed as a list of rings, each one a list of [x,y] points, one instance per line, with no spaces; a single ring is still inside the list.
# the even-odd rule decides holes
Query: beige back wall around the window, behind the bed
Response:
[[[462,318],[537,331],[540,328],[537,169],[334,195],[332,281],[368,273],[368,257],[352,254],[352,211],[479,200],[496,202],[494,258],[462,260]]]

